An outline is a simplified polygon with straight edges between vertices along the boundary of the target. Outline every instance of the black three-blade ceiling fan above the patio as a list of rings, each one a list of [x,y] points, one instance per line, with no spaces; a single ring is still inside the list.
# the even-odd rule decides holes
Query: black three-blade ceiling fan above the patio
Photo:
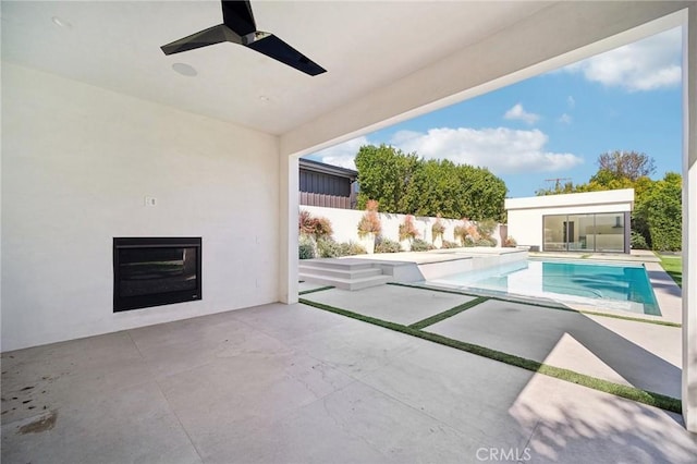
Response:
[[[264,53],[311,76],[327,72],[326,69],[273,34],[257,30],[249,1],[222,0],[221,3],[222,24],[163,45],[160,48],[164,54],[180,53],[213,44],[231,41]]]

